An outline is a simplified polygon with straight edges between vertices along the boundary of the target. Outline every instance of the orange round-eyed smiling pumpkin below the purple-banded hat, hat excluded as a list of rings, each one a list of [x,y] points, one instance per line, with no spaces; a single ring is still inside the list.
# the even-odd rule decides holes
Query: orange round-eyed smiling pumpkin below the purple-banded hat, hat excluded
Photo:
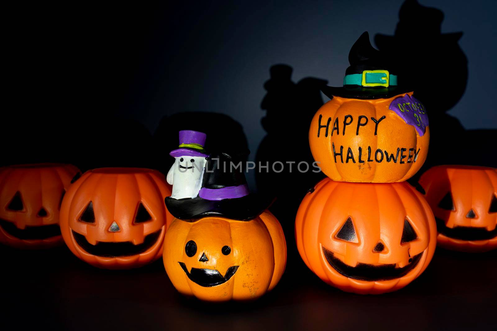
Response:
[[[286,242],[281,225],[267,210],[249,221],[174,219],[163,260],[182,294],[208,301],[249,300],[278,283],[286,264]]]

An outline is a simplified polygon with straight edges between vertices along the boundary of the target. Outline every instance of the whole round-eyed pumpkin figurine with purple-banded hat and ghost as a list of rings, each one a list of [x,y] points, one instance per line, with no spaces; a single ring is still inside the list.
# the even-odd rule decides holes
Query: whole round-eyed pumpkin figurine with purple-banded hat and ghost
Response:
[[[167,176],[173,195],[165,202],[176,218],[166,232],[164,266],[184,295],[207,301],[255,299],[283,274],[285,236],[276,217],[250,193],[241,169],[232,167],[238,164],[235,158],[228,153],[205,158],[204,141],[201,132],[180,132],[180,147],[170,153],[176,158]],[[186,162],[200,149],[205,163]],[[187,194],[181,194],[183,178],[193,176],[198,185],[189,182]]]

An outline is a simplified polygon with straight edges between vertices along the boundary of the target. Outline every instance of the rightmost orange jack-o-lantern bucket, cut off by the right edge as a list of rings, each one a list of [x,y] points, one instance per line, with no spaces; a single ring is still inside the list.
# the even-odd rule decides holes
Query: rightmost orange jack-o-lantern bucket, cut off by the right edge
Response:
[[[440,247],[463,252],[497,248],[497,170],[443,165],[420,178],[435,214]]]

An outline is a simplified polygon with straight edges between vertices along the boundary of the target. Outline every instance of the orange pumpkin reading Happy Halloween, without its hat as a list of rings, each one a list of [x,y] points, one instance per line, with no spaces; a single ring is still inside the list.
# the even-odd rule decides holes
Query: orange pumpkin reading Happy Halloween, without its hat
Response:
[[[413,92],[406,95],[411,98]],[[415,125],[390,110],[403,95],[385,99],[333,97],[311,122],[309,143],[314,159],[334,181],[360,183],[403,182],[423,165],[428,152],[429,126],[422,104],[399,108]],[[415,100],[415,99],[414,99]],[[404,105],[404,106],[403,106]],[[421,115],[422,114],[422,115]],[[406,116],[408,116],[406,115]]]

